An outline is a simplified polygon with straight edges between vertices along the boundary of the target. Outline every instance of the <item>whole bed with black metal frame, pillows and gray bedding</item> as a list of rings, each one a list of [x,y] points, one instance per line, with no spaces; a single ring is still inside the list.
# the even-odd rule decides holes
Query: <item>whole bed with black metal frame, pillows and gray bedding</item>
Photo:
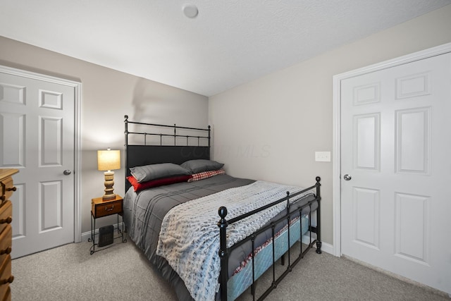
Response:
[[[249,287],[256,298],[257,279],[272,267],[264,299],[314,245],[321,254],[321,179],[303,189],[234,178],[210,160],[210,140],[210,128],[125,116],[128,236],[179,300],[235,300]],[[278,261],[286,269],[276,277]]]

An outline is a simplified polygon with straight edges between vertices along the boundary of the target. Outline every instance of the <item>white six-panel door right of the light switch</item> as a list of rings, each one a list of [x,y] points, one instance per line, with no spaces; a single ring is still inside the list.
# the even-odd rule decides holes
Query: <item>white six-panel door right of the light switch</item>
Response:
[[[341,93],[342,254],[451,293],[451,54]]]

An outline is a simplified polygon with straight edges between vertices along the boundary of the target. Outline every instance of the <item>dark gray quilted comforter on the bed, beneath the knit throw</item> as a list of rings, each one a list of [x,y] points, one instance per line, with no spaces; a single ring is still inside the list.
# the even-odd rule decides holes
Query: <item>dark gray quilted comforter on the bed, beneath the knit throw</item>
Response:
[[[163,217],[178,204],[253,182],[254,180],[219,175],[192,183],[160,186],[138,193],[130,188],[125,194],[123,217],[128,236],[144,252],[150,262],[161,271],[163,278],[166,278],[174,286],[179,300],[192,300],[192,298],[185,288],[185,283],[171,269],[166,259],[156,255]],[[223,205],[227,206],[227,204]]]

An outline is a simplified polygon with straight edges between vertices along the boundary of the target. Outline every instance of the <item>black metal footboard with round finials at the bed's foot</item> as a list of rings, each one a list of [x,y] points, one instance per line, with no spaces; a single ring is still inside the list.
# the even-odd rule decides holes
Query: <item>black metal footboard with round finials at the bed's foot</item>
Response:
[[[236,247],[239,247],[240,245],[242,245],[245,242],[248,242],[249,240],[252,242],[252,250],[255,250],[254,246],[254,240],[257,237],[257,235],[259,235],[259,233],[262,233],[264,231],[266,231],[268,228],[272,228],[272,239],[273,239],[273,281],[271,283],[271,286],[259,297],[258,300],[263,300],[266,296],[269,295],[269,293],[271,293],[271,291],[277,287],[277,285],[280,283],[280,281],[283,280],[283,278],[285,278],[285,276],[292,271],[292,267],[295,266],[303,257],[304,255],[311,249],[311,247],[314,246],[314,244],[316,243],[316,253],[321,254],[321,227],[320,227],[320,223],[321,223],[321,211],[320,211],[320,201],[321,201],[321,192],[320,192],[320,184],[321,178],[320,177],[316,177],[316,184],[304,189],[300,192],[294,193],[292,195],[289,194],[289,192],[287,192],[287,196],[283,197],[282,199],[278,199],[275,202],[272,202],[271,204],[268,204],[264,207],[260,207],[259,209],[255,209],[253,211],[250,211],[246,214],[242,214],[240,216],[235,217],[234,219],[230,219],[227,220],[226,216],[227,216],[227,208],[226,207],[220,207],[218,209],[218,214],[221,217],[220,221],[218,221],[218,227],[219,227],[219,237],[220,237],[220,249],[219,249],[219,257],[221,259],[221,274],[219,276],[219,283],[220,283],[220,290],[221,290],[221,301],[226,301],[227,300],[227,283],[228,283],[228,257],[230,252],[235,249]],[[297,195],[300,195],[304,192],[307,192],[309,190],[312,189],[316,189],[316,197],[312,200],[310,200],[309,202],[307,202],[307,204],[304,204],[302,207],[299,207],[299,209],[297,209],[297,211],[290,211],[290,199],[292,197],[296,197]],[[268,209],[269,207],[272,207],[276,204],[279,204],[280,202],[287,202],[287,213],[285,214],[285,216],[281,217],[280,219],[278,219],[277,221],[273,221],[271,222],[271,224],[269,224],[268,226],[259,229],[259,231],[252,233],[252,235],[249,235],[247,238],[245,238],[244,240],[237,242],[237,244],[233,245],[232,247],[227,247],[227,227],[228,225],[235,223],[237,221],[240,221],[242,219],[247,218],[248,216],[251,216],[252,214],[256,214],[259,211],[263,211],[265,209]],[[312,204],[314,204],[315,202],[317,202],[318,207],[316,208],[316,227],[311,226],[311,206]],[[292,216],[295,214],[299,214],[299,220],[302,218],[302,214],[304,214],[304,212],[309,214],[309,231],[310,231],[310,240],[309,240],[309,245],[305,248],[305,250],[302,250],[302,243],[300,243],[300,250],[299,250],[299,254],[297,254],[297,257],[293,257],[294,260],[292,261],[292,251],[291,247],[290,247],[290,221],[292,220]],[[275,262],[276,262],[276,258],[275,258],[275,250],[274,250],[274,240],[275,240],[275,225],[277,223],[279,223],[280,221],[283,220],[287,221],[288,224],[288,252],[285,254],[288,254],[288,265],[287,265],[287,269],[285,271],[283,271],[282,274],[280,274],[280,276],[278,276],[276,278],[276,270],[275,270]],[[302,240],[302,222],[299,223],[300,227],[301,227],[301,240]],[[316,233],[316,239],[312,240],[311,237],[311,233],[314,232]],[[257,278],[255,278],[254,275],[254,252],[251,252],[252,254],[252,295],[254,295],[254,300],[255,300],[255,281],[257,281]],[[282,262],[285,262],[285,258],[282,257]],[[284,264],[284,263],[283,263]]]

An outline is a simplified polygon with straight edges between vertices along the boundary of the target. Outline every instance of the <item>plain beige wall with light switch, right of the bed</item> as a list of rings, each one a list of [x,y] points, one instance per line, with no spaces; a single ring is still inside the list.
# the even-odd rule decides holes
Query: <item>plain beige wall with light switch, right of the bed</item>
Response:
[[[307,187],[322,178],[322,240],[333,242],[333,75],[451,42],[451,5],[209,97],[214,159],[233,176]]]

